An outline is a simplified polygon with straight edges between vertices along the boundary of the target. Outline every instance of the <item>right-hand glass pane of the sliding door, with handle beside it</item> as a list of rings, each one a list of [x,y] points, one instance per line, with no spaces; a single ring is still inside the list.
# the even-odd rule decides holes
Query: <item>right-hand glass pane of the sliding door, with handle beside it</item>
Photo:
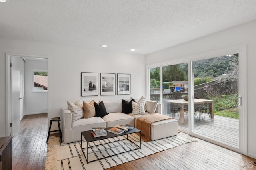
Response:
[[[195,134],[239,148],[239,55],[193,62]]]

